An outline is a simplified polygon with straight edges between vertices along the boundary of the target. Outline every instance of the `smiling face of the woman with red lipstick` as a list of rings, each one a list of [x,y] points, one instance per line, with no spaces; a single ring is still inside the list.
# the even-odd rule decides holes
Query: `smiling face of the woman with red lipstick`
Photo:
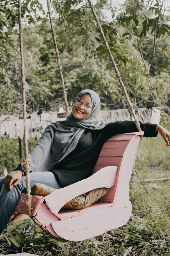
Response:
[[[80,96],[80,98],[83,100],[83,102],[92,104],[92,99],[90,94],[83,94],[82,96]],[[81,105],[77,105],[74,102],[72,106],[72,114],[76,119],[83,120],[90,116],[92,109],[89,111],[85,110],[84,108],[85,103]]]

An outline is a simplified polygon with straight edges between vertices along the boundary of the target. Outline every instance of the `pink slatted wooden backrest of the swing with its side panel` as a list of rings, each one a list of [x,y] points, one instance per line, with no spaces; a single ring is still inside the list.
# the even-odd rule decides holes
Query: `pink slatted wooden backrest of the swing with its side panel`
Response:
[[[92,174],[106,166],[118,166],[118,171],[115,185],[100,201],[115,204],[129,201],[129,181],[141,134],[118,134],[104,143]]]

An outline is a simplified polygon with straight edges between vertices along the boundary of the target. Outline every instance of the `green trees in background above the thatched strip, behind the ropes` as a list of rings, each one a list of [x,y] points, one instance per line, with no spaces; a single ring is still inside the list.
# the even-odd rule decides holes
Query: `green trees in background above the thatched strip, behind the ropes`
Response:
[[[0,113],[21,113],[17,1],[12,0],[9,3],[1,0],[1,3],[0,82],[3,97],[0,99]],[[145,107],[147,100],[155,100],[156,106],[169,104],[170,38],[166,31],[169,26],[168,18],[163,15],[162,8],[157,22],[157,26],[162,28],[157,32],[165,33],[157,35],[155,59],[152,54],[153,30],[158,14],[153,9],[160,8],[161,3],[158,1],[155,6],[152,4],[138,1],[135,12],[135,3],[127,0],[121,13],[115,17],[116,9],[108,1],[98,1],[98,6],[95,6],[130,99],[138,107]],[[99,31],[95,28],[88,4],[81,0],[65,0],[53,1],[53,6],[51,10],[54,28],[70,105],[73,98],[84,88],[96,90],[101,96],[102,106],[106,109],[110,103],[115,103],[115,107],[120,102],[123,103],[124,96],[119,81]],[[112,12],[112,21],[107,20],[105,9]],[[64,106],[64,101],[47,12],[44,12],[39,1],[27,0],[22,4],[22,18],[26,80],[30,86],[26,97],[27,111],[37,111],[39,107],[43,107],[45,111],[58,110],[60,106]],[[152,24],[150,20],[153,20]],[[163,30],[163,27],[166,29]],[[154,85],[152,88],[145,67]],[[127,107],[124,103],[123,105]]]

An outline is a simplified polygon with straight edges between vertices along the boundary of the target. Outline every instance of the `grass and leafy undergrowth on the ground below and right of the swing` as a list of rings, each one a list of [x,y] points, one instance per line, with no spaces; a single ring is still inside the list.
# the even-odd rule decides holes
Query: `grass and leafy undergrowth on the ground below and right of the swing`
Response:
[[[124,227],[78,245],[78,242],[63,244],[50,239],[32,220],[11,223],[1,237],[0,253],[23,251],[64,256],[64,245],[69,252],[86,246],[82,253],[89,255],[170,255],[170,182],[144,181],[170,177],[169,155],[170,147],[165,147],[160,135],[157,138],[143,138],[135,163],[138,175],[133,171],[130,181],[132,216]]]

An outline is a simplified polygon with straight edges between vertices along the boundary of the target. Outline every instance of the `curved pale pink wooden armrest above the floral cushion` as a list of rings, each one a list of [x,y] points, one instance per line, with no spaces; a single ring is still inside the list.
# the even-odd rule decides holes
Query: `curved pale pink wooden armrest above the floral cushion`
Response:
[[[107,166],[100,169],[87,179],[83,179],[67,187],[54,190],[44,197],[45,204],[50,210],[59,210],[76,196],[82,195],[96,188],[111,188],[115,184],[117,166]]]

